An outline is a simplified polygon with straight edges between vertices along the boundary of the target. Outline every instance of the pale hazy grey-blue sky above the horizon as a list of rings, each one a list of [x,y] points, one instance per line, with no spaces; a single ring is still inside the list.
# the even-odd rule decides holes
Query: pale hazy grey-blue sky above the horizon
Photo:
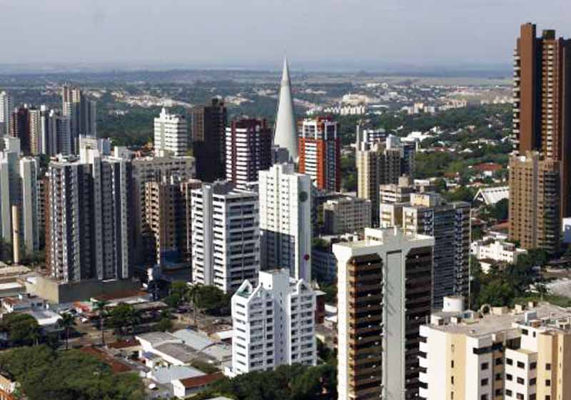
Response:
[[[570,0],[0,0],[0,64],[507,64]]]

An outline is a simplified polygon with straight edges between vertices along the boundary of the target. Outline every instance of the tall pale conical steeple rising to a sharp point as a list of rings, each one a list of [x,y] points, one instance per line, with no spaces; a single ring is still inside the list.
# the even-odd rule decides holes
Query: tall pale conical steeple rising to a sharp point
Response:
[[[273,144],[288,149],[290,161],[297,161],[298,132],[297,129],[295,129],[295,114],[293,113],[293,97],[291,96],[290,71],[287,57],[283,59],[280,99],[278,102],[278,116],[276,116],[276,131],[274,131],[273,135]]]

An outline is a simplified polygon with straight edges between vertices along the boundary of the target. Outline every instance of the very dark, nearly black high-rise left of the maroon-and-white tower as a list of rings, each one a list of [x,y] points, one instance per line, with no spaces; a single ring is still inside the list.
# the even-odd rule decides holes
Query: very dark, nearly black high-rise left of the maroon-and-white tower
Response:
[[[226,124],[226,106],[217,98],[210,105],[191,109],[196,177],[203,182],[213,182],[226,176]]]

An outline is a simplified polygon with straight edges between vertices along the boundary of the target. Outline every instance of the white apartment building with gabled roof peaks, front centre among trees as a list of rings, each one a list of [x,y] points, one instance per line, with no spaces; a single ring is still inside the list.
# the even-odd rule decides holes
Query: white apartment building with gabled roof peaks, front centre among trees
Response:
[[[315,293],[287,269],[261,271],[232,296],[232,368],[236,376],[286,364],[317,364]]]

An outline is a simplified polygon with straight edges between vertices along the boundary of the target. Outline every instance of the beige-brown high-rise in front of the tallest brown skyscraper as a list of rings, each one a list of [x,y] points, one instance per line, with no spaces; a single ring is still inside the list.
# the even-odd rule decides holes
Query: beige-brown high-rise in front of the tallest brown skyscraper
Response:
[[[523,249],[557,251],[560,242],[560,162],[537,151],[510,159],[510,240]]]

